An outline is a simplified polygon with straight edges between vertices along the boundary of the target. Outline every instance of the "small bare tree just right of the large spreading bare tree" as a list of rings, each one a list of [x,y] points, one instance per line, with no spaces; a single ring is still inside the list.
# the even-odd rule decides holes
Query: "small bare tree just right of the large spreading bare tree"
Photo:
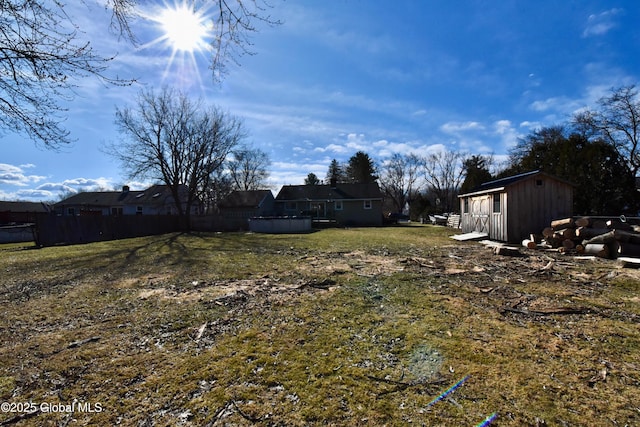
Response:
[[[269,155],[258,148],[241,147],[227,162],[229,175],[238,190],[258,190],[269,177]]]

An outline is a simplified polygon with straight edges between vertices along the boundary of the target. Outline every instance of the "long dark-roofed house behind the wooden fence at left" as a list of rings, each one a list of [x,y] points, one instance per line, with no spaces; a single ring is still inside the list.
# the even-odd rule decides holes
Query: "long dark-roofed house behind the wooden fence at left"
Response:
[[[186,199],[186,187],[181,189]],[[183,202],[184,204],[184,202]],[[74,194],[54,205],[61,216],[177,215],[171,190],[166,185],[152,185],[146,190],[87,191]],[[197,213],[199,206],[192,207]]]

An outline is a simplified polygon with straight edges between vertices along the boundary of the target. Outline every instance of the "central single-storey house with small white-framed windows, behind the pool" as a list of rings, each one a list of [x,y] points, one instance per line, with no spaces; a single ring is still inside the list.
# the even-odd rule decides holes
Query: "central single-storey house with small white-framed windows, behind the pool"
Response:
[[[382,193],[377,183],[285,185],[276,196],[279,215],[311,216],[344,226],[382,225]]]

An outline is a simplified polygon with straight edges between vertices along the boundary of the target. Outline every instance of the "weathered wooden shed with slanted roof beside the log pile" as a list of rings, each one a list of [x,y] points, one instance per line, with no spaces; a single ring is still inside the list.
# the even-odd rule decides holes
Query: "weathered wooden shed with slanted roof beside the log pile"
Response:
[[[573,213],[573,185],[539,170],[486,182],[460,194],[463,233],[520,242]]]

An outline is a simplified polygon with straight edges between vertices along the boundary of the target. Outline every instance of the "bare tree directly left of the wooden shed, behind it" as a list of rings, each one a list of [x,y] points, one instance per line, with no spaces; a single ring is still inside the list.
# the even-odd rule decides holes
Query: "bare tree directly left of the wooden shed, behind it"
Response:
[[[464,179],[464,160],[465,155],[457,151],[440,151],[423,159],[425,181],[443,212],[457,207],[455,197]]]

